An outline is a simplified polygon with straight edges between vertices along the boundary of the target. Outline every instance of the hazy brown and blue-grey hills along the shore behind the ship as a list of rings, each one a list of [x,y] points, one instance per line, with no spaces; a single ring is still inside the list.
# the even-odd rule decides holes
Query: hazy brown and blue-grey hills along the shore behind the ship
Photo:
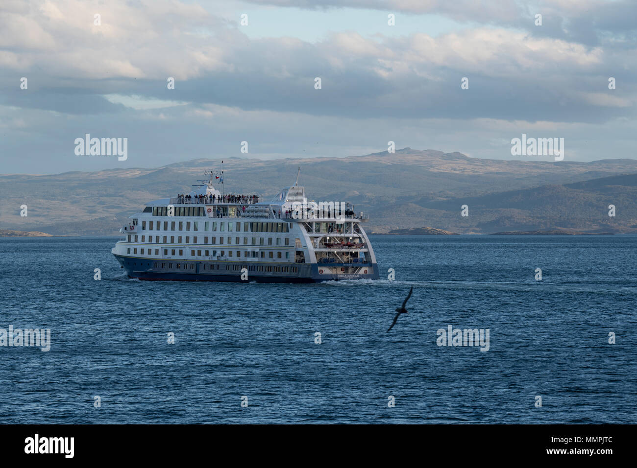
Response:
[[[157,169],[0,175],[0,228],[54,235],[115,235],[145,202],[187,193],[219,160]],[[637,160],[594,162],[470,158],[403,148],[345,158],[224,158],[226,193],[299,185],[315,201],[351,201],[377,233],[433,227],[459,233],[563,229],[637,232]],[[27,205],[28,216],[20,216]],[[616,216],[608,216],[613,204]],[[461,216],[462,205],[468,215]]]

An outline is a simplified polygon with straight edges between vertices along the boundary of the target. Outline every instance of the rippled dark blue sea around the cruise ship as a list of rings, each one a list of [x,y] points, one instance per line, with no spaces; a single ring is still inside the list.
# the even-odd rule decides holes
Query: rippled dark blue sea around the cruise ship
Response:
[[[0,420],[637,423],[637,236],[371,239],[381,280],[264,285],[129,280],[116,238],[0,238],[0,328],[51,330],[0,347]],[[489,350],[438,346],[448,325]]]

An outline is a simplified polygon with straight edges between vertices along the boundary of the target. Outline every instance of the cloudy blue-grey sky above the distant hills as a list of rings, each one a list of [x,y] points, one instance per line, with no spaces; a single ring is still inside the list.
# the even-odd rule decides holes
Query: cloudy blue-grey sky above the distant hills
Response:
[[[636,158],[635,18],[621,0],[1,0],[0,173],[388,141],[514,159],[523,133],[564,138],[564,160]],[[76,155],[87,133],[127,138],[127,160]]]

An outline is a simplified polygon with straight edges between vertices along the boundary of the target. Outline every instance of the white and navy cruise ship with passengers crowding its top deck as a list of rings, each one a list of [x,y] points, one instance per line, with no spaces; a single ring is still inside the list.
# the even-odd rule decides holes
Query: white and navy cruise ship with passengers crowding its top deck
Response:
[[[215,186],[223,187],[223,178],[210,171],[189,194],[155,200],[130,216],[111,252],[140,280],[378,279],[362,227],[369,216],[350,203],[308,203],[299,173],[294,185],[264,202],[259,195],[222,194]]]

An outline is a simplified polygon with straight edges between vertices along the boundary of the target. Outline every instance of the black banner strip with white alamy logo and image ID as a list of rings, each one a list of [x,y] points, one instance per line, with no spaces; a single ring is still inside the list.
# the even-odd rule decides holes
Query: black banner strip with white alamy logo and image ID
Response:
[[[0,425],[0,453],[3,461],[183,462],[227,454],[231,460],[268,455],[278,461],[293,457],[297,462],[304,459],[298,457],[309,457],[307,461],[315,463],[325,462],[327,453],[338,450],[340,461],[358,462],[377,456],[415,456],[461,464],[537,458],[603,463],[608,457],[630,453],[626,441],[634,429],[634,425]]]

